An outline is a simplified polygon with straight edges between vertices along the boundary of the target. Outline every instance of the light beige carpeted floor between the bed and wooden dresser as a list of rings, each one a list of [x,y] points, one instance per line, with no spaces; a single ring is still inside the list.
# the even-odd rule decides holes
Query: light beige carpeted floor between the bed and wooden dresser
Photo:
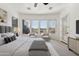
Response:
[[[68,47],[66,44],[56,40],[51,40],[50,42],[54,50],[58,53],[59,56],[77,56],[75,53],[68,50]]]

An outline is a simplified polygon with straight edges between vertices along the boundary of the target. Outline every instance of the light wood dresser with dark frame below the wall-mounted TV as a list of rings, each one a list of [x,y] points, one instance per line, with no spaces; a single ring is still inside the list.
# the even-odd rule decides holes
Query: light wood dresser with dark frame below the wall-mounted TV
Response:
[[[68,49],[79,55],[79,38],[68,37]]]

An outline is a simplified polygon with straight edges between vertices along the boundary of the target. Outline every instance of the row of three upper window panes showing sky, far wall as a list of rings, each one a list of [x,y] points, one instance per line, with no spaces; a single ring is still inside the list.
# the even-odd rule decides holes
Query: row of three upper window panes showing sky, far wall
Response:
[[[55,28],[56,27],[56,20],[33,20],[32,21],[32,28]]]

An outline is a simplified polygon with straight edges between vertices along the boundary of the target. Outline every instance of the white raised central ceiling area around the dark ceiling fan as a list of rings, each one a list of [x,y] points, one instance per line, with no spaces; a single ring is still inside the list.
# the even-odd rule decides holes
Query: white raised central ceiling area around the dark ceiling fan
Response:
[[[48,5],[38,3],[37,7],[34,7],[34,3],[12,3],[10,5],[16,8],[17,12],[24,14],[57,13],[60,12],[66,6],[66,4],[63,3],[49,3]],[[51,10],[49,9],[50,7],[52,7]]]

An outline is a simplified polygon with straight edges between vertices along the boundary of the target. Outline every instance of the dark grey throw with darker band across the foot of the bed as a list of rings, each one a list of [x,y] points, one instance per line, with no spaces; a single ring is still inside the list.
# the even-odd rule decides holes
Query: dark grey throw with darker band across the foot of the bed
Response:
[[[45,41],[34,41],[29,49],[29,56],[50,56]]]

